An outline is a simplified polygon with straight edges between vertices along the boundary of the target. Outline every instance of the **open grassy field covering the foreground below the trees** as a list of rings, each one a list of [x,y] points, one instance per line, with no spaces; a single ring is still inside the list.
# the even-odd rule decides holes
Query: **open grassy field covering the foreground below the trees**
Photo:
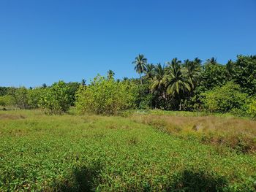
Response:
[[[252,149],[194,139],[255,138],[255,122],[187,116],[1,111],[0,191],[255,191]]]

